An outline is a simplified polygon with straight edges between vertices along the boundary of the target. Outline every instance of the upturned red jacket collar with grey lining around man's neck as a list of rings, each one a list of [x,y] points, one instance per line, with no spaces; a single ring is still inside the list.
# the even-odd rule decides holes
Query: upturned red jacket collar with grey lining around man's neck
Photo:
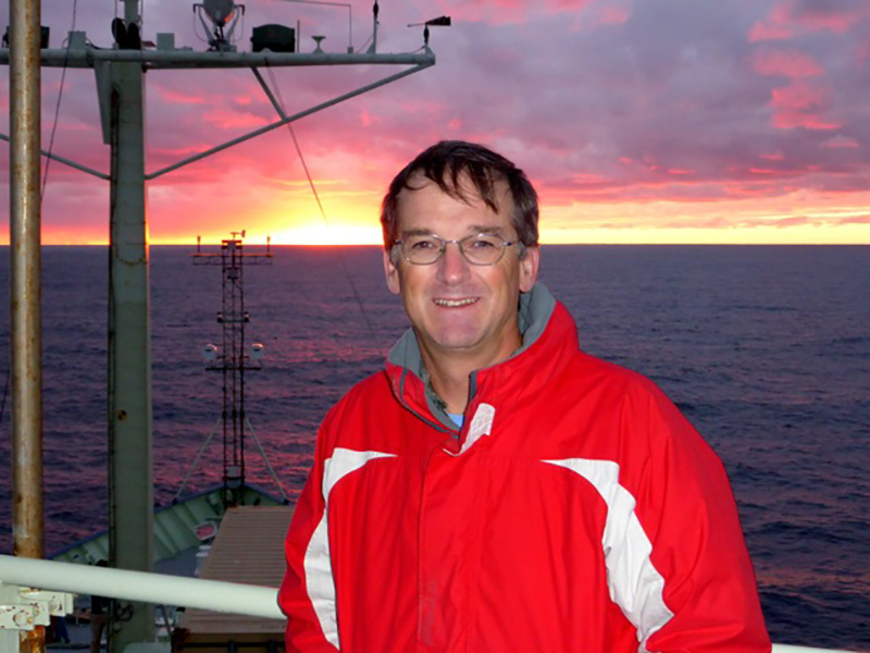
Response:
[[[472,372],[465,409],[486,401],[511,402],[538,389],[576,352],[576,326],[568,310],[540,283],[520,296],[519,325],[522,346],[510,358]],[[428,384],[413,329],[402,334],[387,356],[387,375],[396,398],[433,428],[456,435],[457,427]],[[468,419],[467,419],[468,421]]]

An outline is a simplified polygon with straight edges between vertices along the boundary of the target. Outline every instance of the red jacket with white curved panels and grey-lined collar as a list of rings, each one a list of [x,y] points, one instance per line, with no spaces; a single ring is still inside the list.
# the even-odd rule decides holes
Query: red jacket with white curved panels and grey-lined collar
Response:
[[[458,436],[412,334],[326,417],[286,542],[288,651],[770,651],[717,456],[532,294]]]

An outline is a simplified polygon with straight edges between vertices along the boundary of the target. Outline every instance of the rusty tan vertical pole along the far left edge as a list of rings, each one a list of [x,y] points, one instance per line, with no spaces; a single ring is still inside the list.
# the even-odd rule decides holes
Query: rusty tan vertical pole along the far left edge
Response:
[[[10,183],[13,552],[45,555],[42,518],[42,318],[40,291],[40,2],[10,3]],[[45,630],[15,650],[45,649]]]

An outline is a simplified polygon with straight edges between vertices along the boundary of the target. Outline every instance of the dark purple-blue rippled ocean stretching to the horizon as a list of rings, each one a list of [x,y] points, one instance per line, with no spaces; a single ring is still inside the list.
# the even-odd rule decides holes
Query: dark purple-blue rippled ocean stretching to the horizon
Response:
[[[220,374],[200,359],[221,340],[221,273],[192,266],[192,249],[151,249],[160,504],[221,415]],[[407,320],[378,248],[273,252],[271,266],[245,271],[247,340],[265,347],[263,369],[246,377],[246,408],[296,496],[320,420],[382,369]],[[46,247],[42,268],[46,547],[54,552],[107,527],[108,250]],[[547,245],[540,279],[576,319],[586,352],[655,380],[724,461],[774,641],[870,650],[870,247]],[[2,387],[8,247],[0,306]],[[0,445],[10,460],[7,391]],[[189,489],[219,481],[221,460],[215,441]],[[253,446],[247,468],[270,489]],[[7,480],[3,553],[10,514]]]

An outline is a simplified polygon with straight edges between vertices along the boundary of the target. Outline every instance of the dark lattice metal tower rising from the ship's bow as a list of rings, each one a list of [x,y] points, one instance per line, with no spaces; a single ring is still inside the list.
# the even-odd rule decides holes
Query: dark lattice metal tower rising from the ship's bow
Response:
[[[244,251],[245,232],[231,232],[232,238],[221,241],[221,251],[203,252],[197,243],[192,255],[195,266],[221,266],[222,305],[217,312],[222,344],[219,349],[207,345],[203,352],[208,370],[223,375],[223,484],[224,505],[237,505],[238,491],[245,485],[245,432],[248,419],[245,412],[245,372],[262,369],[262,345],[245,344],[245,325],[250,315],[245,309],[245,266],[272,262],[272,250]]]

